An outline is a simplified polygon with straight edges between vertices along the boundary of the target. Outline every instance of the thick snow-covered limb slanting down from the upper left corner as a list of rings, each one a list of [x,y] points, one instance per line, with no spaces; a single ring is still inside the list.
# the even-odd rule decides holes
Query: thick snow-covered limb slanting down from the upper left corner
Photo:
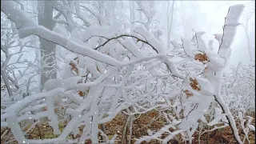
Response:
[[[70,41],[68,38],[64,38],[62,35],[57,34],[54,31],[47,30],[43,26],[36,25],[36,23],[31,18],[28,18],[22,12],[22,10],[18,10],[14,7],[13,1],[1,2],[2,12],[8,15],[8,17],[17,25],[16,27],[19,30],[19,35],[21,38],[26,38],[32,34],[38,35],[40,38],[57,43],[58,45],[63,46],[74,53],[86,55],[90,58],[97,59],[100,62],[106,62],[111,66],[121,65],[121,62],[118,62],[114,58],[110,58],[105,54],[99,53],[98,51],[81,46],[76,42]]]

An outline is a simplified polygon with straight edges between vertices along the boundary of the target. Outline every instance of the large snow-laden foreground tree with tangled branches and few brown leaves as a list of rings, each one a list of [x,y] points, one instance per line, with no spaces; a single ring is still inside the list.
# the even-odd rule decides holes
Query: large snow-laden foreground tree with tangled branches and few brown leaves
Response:
[[[47,80],[44,90],[2,110],[1,126],[10,127],[21,143],[84,143],[87,139],[98,143],[98,134],[106,143],[114,143],[117,135],[108,138],[99,125],[122,112],[128,115],[127,127],[136,115],[157,110],[165,118],[165,126],[154,134],[147,130],[148,135],[135,143],[151,139],[167,143],[177,134],[192,143],[199,122],[207,126],[225,123],[223,126],[229,125],[236,141],[242,143],[221,88],[222,70],[244,6],[230,6],[222,38],[216,37],[220,41],[216,54],[212,41],[207,46],[202,40],[202,31],[194,31],[191,40],[182,38],[181,44],[171,42],[174,49],[166,49],[162,31],[152,30],[155,11],[150,6],[154,2],[136,2],[134,6],[146,18],[139,22],[114,14],[115,9],[110,10],[114,4],[53,1],[51,6],[59,17],[54,18],[58,25],[51,30],[15,7],[14,1],[1,2],[1,10],[14,22],[19,38],[36,35],[53,42],[62,61],[60,78]],[[41,118],[48,119],[56,138],[27,139],[18,122],[32,119],[32,129]],[[58,125],[63,121],[66,126],[60,130]],[[247,126],[252,127],[250,122]],[[163,133],[168,135],[160,138]],[[70,139],[70,134],[80,136]]]

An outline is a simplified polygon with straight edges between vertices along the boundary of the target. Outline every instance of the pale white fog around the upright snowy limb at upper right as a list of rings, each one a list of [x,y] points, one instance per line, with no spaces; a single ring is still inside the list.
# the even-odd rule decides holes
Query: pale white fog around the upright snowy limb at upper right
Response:
[[[156,8],[158,17],[161,19],[162,28],[166,27],[167,3],[166,1],[159,2]],[[169,3],[171,5],[171,2]],[[181,37],[185,37],[185,33],[188,36],[191,34],[192,28],[196,31],[205,31],[206,34],[203,34],[202,38],[206,42],[214,39],[214,34],[222,34],[222,26],[229,7],[236,4],[246,6],[240,22],[246,26],[248,19],[247,31],[250,37],[250,49],[253,52],[252,58],[255,61],[255,1],[175,1],[171,39],[180,41]],[[186,29],[186,32],[184,29]],[[238,66],[239,62],[250,62],[246,40],[245,28],[238,26],[234,43],[231,46],[231,58],[226,70],[229,70],[230,66]],[[218,50],[218,41],[216,40],[214,40],[214,48],[216,51]]]

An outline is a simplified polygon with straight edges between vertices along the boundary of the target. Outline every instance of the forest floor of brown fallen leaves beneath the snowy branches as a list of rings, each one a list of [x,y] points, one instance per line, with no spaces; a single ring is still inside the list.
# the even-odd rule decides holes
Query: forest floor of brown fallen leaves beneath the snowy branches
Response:
[[[254,118],[252,124],[255,124],[255,113],[249,114],[251,117]],[[114,134],[118,134],[117,139],[117,144],[121,143],[122,139],[122,131],[124,128],[124,125],[126,123],[126,118],[127,116],[125,114],[118,114],[116,118],[114,118],[111,122],[107,122],[104,124],[105,130],[106,130],[106,135],[108,135],[109,138],[112,138]],[[238,123],[238,122],[237,122]],[[155,111],[150,111],[146,114],[140,115],[137,119],[133,121],[133,126],[132,126],[132,135],[131,135],[131,143],[135,142],[135,138],[139,138],[143,135],[148,135],[147,130],[150,129],[152,131],[154,130],[159,130],[162,126],[164,126],[165,121],[164,118],[159,117],[158,113]],[[60,130],[62,131],[63,128],[66,126],[65,123],[62,123],[59,125]],[[80,132],[82,132],[82,128],[80,127]],[[99,126],[100,129],[102,129],[101,126]],[[206,127],[205,130],[207,129],[212,129],[213,127]],[[24,131],[26,131],[27,128],[25,128]],[[170,128],[170,131],[174,131]],[[242,127],[238,126],[238,132],[240,137],[243,139],[245,137],[245,134],[243,134]],[[128,143],[129,137],[130,137],[130,123],[127,125],[126,129],[126,138],[124,139],[123,143]],[[162,138],[165,138],[168,134],[162,134]],[[42,124],[40,126],[34,126],[29,132],[26,134],[26,138],[28,139],[44,139],[44,138],[56,138],[58,135],[55,135],[53,133],[52,128],[47,125],[47,124]],[[69,138],[79,138],[80,134],[74,135],[70,134]],[[101,139],[101,136],[98,136],[99,139]],[[198,143],[198,132],[195,132],[193,135],[193,144]],[[251,144],[255,144],[255,133],[251,132],[249,133],[249,141]],[[18,143],[14,140],[13,135],[11,134],[10,129],[1,129],[1,144],[3,143]],[[90,144],[91,142],[87,141],[86,144]],[[151,143],[151,144],[160,144],[158,140],[152,140],[150,142],[142,142],[144,143]],[[170,140],[168,142],[170,144],[182,144],[185,142],[182,142],[181,136],[176,137],[173,140]],[[202,144],[220,144],[220,143],[225,143],[225,144],[235,144],[237,143],[234,140],[232,131],[230,129],[230,126],[226,126],[226,128],[219,129],[219,130],[214,130],[212,132],[207,132],[205,134],[202,134],[200,136],[200,143]],[[246,141],[245,143],[249,143]]]

